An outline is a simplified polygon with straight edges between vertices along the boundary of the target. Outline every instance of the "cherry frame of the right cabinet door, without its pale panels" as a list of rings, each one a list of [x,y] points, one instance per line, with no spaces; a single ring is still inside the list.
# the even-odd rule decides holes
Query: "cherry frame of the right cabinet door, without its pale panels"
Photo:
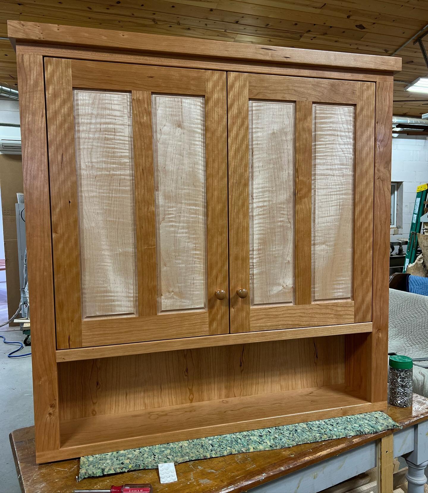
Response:
[[[230,332],[371,321],[375,84],[349,80],[228,73]],[[237,289],[250,287],[249,102],[294,107],[294,283],[292,304],[251,305]],[[313,105],[352,106],[352,293],[312,301]],[[309,260],[308,260],[309,259]]]

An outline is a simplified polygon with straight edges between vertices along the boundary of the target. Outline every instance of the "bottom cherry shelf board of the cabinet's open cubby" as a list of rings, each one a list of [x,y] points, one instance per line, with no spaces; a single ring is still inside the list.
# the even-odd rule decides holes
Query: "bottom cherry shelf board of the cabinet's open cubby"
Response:
[[[61,423],[61,448],[38,454],[37,461],[61,460],[385,408],[386,402],[372,404],[345,384],[339,384],[92,416]]]

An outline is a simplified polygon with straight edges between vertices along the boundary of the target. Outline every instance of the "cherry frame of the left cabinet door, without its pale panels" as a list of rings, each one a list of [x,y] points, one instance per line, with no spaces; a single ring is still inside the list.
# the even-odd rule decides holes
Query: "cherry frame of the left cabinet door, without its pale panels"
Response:
[[[226,73],[46,58],[53,262],[58,349],[229,332]],[[103,74],[103,77],[100,77]],[[59,89],[60,88],[60,89]],[[84,317],[79,242],[73,89],[132,94],[137,315]],[[204,97],[206,290],[202,310],[158,313],[152,94]],[[132,162],[131,162],[132,165]],[[159,255],[159,252],[158,252]]]

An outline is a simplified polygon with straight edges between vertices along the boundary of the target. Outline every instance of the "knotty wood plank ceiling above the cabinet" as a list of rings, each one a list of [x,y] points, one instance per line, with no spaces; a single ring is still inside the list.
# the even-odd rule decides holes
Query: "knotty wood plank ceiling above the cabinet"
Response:
[[[395,49],[428,24],[426,0],[22,0],[0,1],[0,36],[6,20],[192,36],[374,55]],[[428,49],[428,36],[427,36]],[[428,112],[428,96],[404,91],[427,76],[413,42],[399,52],[394,113]],[[0,40],[0,81],[17,84],[16,58]],[[423,101],[420,101],[423,100]]]

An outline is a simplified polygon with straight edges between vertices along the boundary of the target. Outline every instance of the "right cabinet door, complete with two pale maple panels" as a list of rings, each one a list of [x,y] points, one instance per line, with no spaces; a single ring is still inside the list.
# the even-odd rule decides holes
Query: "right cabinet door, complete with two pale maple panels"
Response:
[[[231,332],[371,320],[374,94],[228,73]]]

